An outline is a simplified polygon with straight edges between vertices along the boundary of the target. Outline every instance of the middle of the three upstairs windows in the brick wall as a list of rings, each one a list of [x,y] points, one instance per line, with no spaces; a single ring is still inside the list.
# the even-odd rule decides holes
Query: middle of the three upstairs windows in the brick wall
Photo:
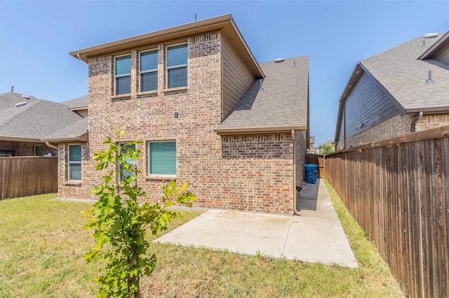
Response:
[[[140,92],[157,90],[157,50],[140,53]]]

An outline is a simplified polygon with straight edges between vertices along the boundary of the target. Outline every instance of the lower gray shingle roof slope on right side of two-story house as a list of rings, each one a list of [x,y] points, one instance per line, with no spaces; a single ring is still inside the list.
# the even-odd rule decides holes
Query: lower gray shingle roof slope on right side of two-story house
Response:
[[[255,80],[227,118],[218,134],[306,130],[309,104],[309,57],[260,64],[265,78]]]

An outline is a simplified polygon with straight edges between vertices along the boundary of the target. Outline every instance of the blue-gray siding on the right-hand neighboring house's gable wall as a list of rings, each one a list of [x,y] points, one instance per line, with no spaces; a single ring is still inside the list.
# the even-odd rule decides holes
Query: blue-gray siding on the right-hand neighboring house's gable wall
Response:
[[[399,114],[394,99],[363,73],[345,102],[346,138],[359,134]],[[363,127],[360,127],[363,123]],[[339,141],[344,141],[344,118]]]

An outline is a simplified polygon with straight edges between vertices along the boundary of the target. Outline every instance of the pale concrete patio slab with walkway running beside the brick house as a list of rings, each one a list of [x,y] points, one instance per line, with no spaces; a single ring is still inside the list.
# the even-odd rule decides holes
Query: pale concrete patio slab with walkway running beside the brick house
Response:
[[[298,215],[210,210],[155,241],[358,267],[326,186],[304,185]]]

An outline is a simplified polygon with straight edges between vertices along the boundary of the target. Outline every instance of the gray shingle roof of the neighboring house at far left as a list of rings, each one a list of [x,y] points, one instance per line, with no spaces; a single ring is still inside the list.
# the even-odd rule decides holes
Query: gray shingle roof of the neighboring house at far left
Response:
[[[0,139],[41,141],[48,134],[81,119],[67,106],[53,101],[8,92],[0,94]],[[27,104],[15,106],[20,102]]]

